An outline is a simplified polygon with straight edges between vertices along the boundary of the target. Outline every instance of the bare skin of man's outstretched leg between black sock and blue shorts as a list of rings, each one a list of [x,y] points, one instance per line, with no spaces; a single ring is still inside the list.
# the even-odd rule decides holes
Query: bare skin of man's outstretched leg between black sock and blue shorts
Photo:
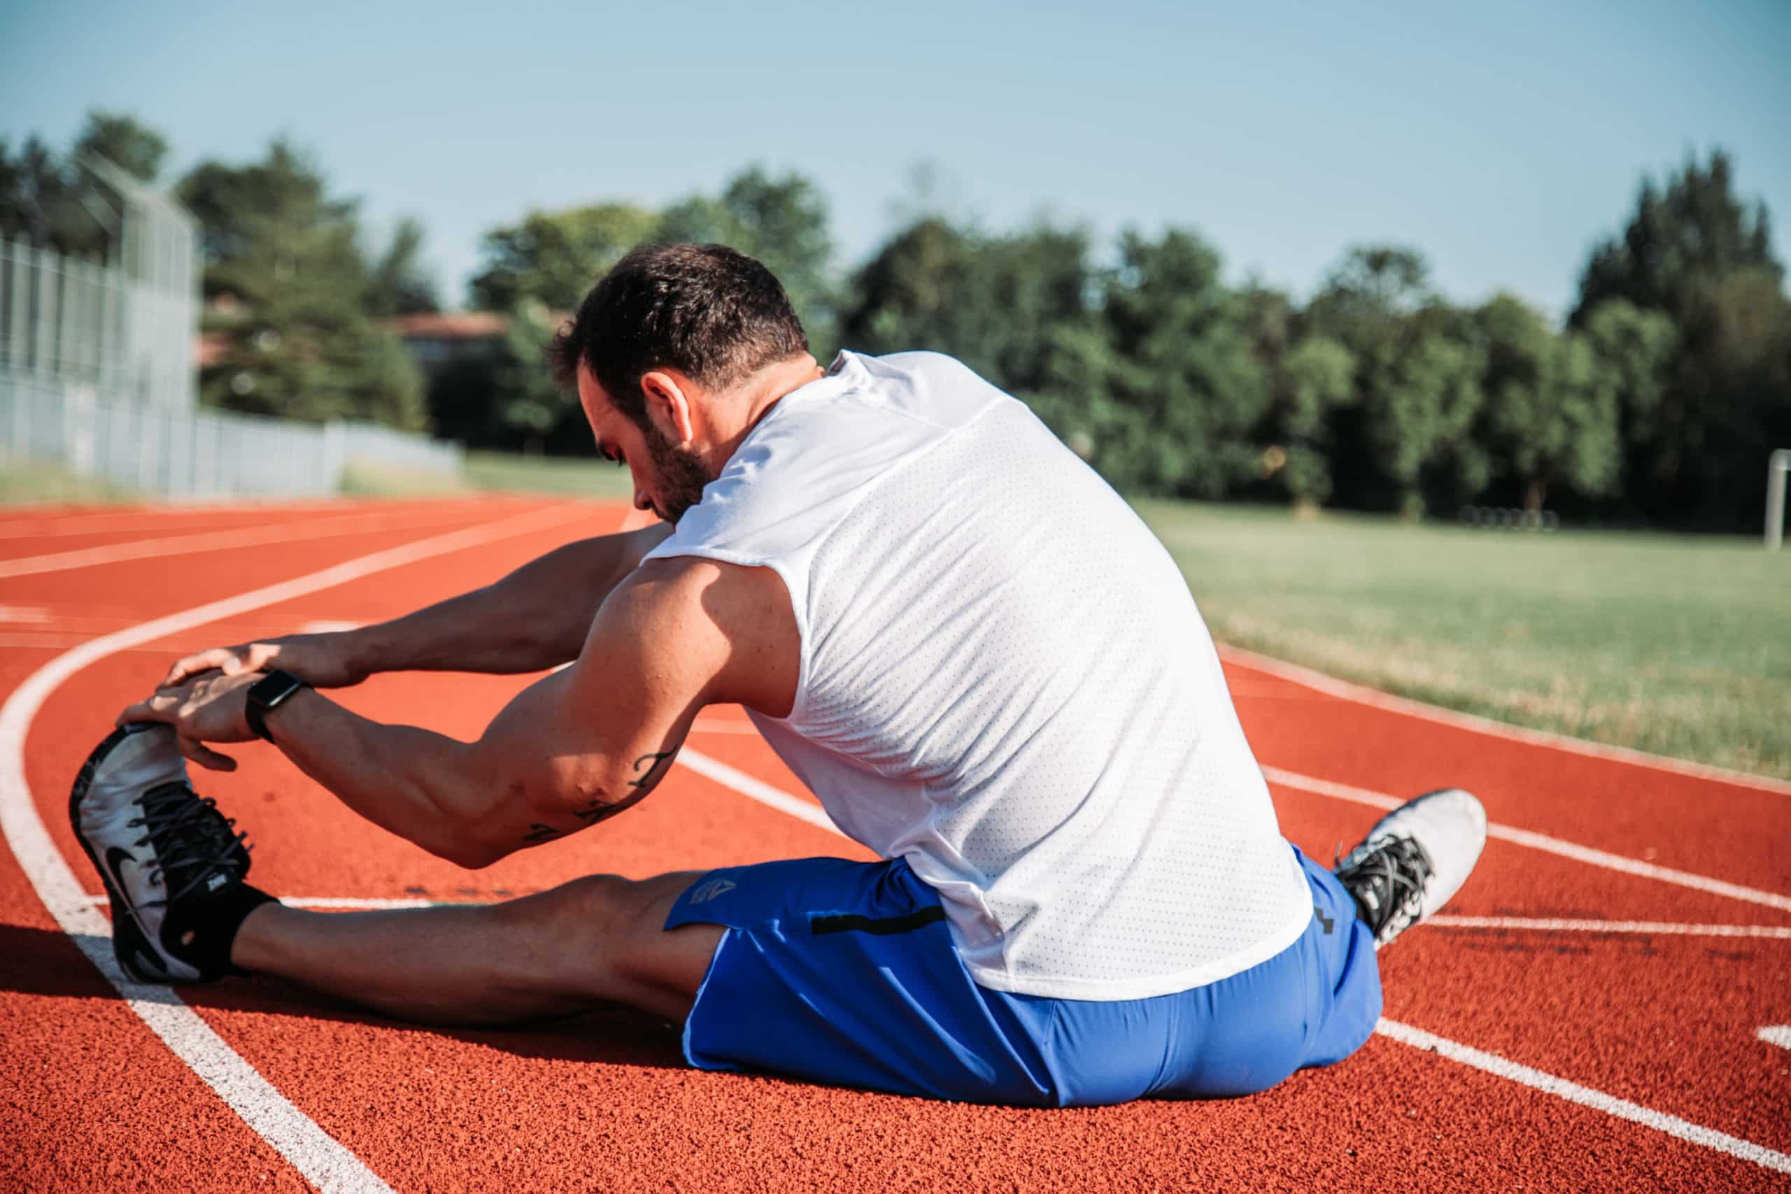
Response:
[[[231,961],[424,1024],[514,1024],[630,1004],[682,1020],[722,927],[664,929],[704,872],[591,875],[501,904],[249,913]]]

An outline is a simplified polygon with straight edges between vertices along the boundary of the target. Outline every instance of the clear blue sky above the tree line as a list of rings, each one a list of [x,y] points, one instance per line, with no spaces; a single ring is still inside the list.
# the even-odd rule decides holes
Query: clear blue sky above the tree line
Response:
[[[1356,11],[1345,11],[1356,9]],[[1560,315],[1644,172],[1727,147],[1791,222],[1791,4],[120,4],[0,13],[0,136],[90,107],[174,166],[288,132],[373,227],[414,213],[458,303],[530,206],[661,204],[759,161],[826,192],[856,263],[919,163],[960,213],[1191,226],[1306,295],[1350,243],[1458,301]]]

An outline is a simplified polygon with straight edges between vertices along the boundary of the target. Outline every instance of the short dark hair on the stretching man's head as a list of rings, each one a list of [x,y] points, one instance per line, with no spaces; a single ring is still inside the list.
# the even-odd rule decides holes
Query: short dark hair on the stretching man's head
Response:
[[[643,424],[641,376],[677,369],[727,388],[808,351],[776,276],[727,245],[641,245],[616,261],[548,344],[561,385],[589,367],[621,414]]]

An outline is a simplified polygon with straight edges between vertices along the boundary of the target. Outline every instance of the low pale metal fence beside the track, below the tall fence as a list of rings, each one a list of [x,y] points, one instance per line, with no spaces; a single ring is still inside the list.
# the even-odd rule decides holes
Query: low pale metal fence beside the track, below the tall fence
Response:
[[[326,496],[349,462],[458,473],[462,449],[364,422],[292,422],[111,403],[0,371],[0,455],[172,499]]]

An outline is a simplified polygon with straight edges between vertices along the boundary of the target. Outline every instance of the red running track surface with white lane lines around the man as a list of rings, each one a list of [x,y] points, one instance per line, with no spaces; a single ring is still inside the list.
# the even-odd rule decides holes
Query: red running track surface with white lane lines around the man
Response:
[[[1232,693],[1302,850],[1331,857],[1440,786],[1494,822],[1449,917],[1381,954],[1383,1031],[1263,1096],[938,1104],[690,1070],[672,1026],[621,1011],[435,1031],[261,979],[120,995],[66,795],[176,653],[389,618],[625,516],[478,499],[0,517],[0,1187],[1791,1189],[1791,786],[1438,720],[1241,653]],[[376,571],[315,576],[367,557]],[[338,696],[471,738],[523,684],[396,675]],[[627,816],[484,872],[360,822],[270,746],[235,754],[236,773],[195,782],[249,831],[256,883],[301,902],[865,856],[733,709],[702,716]]]

